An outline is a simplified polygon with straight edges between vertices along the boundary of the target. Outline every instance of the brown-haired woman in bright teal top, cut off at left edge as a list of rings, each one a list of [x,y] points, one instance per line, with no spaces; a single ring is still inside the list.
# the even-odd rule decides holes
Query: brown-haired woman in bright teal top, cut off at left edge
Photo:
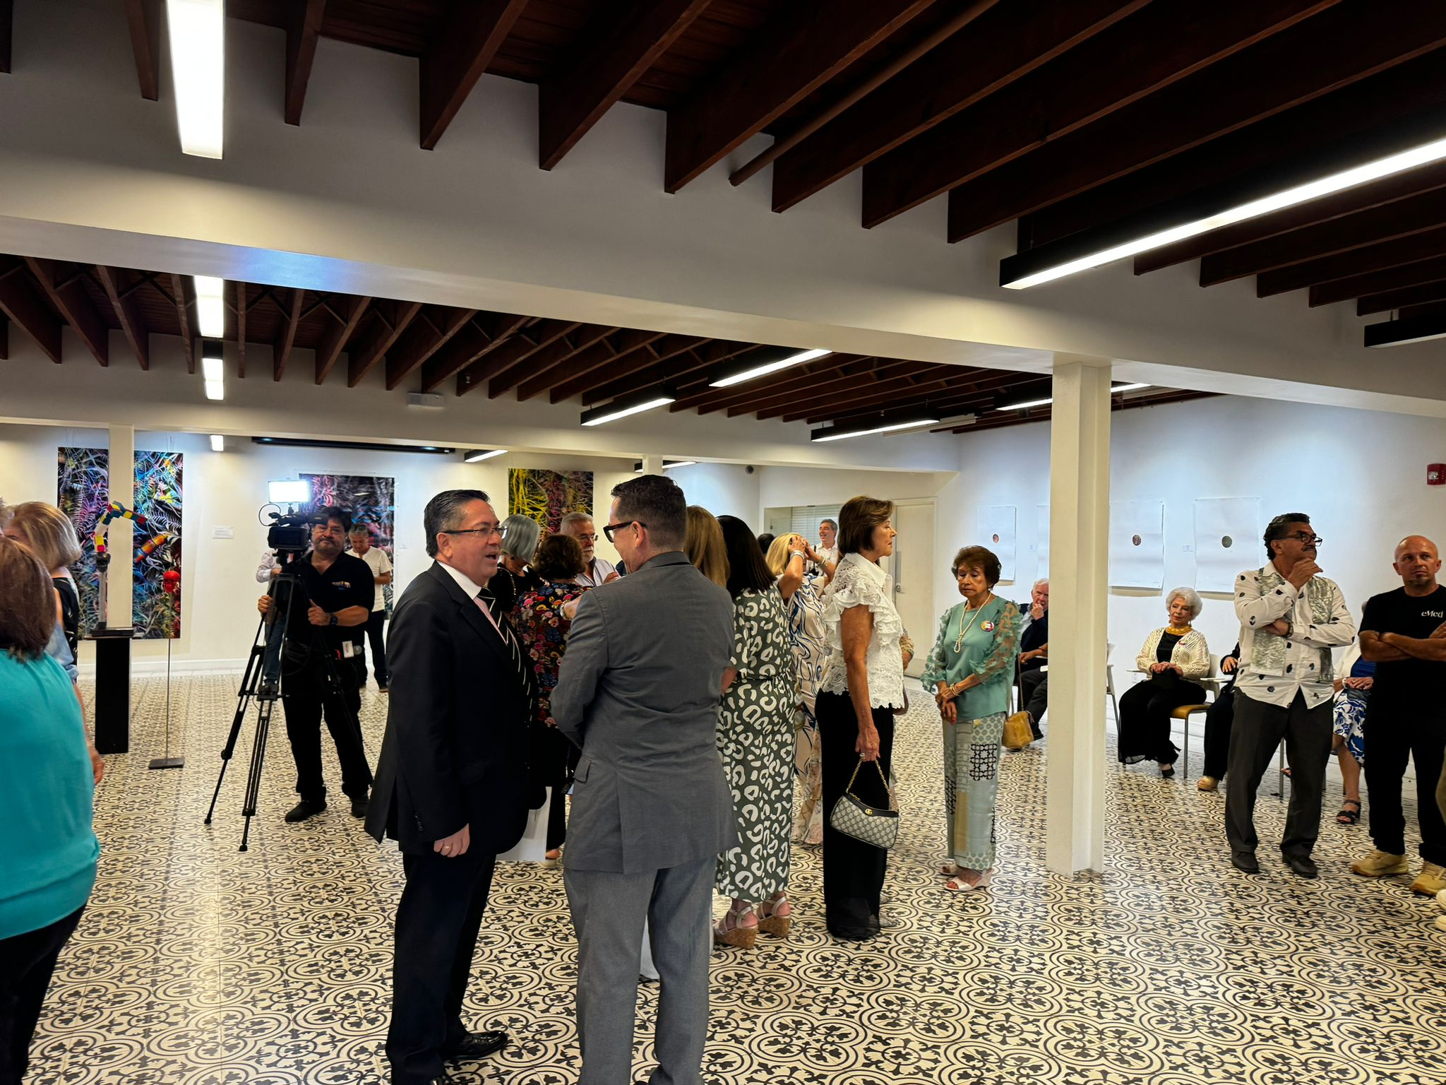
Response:
[[[45,654],[51,576],[0,537],[0,1082],[17,1082],[55,961],[95,884],[85,728],[75,690]]]

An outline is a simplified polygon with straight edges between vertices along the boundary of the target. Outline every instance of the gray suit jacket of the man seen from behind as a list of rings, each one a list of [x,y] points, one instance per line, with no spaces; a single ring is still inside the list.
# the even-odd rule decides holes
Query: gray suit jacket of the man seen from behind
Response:
[[[717,751],[733,600],[680,551],[577,606],[552,718],[583,749],[567,865],[639,874],[737,845]]]

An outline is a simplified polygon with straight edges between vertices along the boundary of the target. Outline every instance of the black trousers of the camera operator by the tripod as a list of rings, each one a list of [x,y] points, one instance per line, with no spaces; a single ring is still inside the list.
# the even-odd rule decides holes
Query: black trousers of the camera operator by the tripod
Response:
[[[337,660],[340,694],[327,689],[321,664],[308,664],[308,670],[302,673],[286,671],[282,676],[286,738],[291,739],[291,755],[296,761],[296,793],[311,803],[327,799],[327,783],[321,775],[322,715],[341,762],[341,790],[351,799],[366,799],[372,787],[372,768],[366,761],[362,725],[357,722],[362,694],[357,692],[356,668],[347,663]]]

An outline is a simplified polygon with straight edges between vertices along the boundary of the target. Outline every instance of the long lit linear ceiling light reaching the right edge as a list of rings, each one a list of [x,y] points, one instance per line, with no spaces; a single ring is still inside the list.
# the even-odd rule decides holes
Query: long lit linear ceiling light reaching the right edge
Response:
[[[1009,275],[1009,260],[1005,260],[1001,265],[999,285],[1015,291],[1025,289],[1028,286],[1038,286],[1041,282],[1063,279],[1066,275],[1074,275],[1076,272],[1099,268],[1105,263],[1113,263],[1115,260],[1122,260],[1126,256],[1135,256],[1137,253],[1142,253],[1150,249],[1158,249],[1163,244],[1174,244],[1176,242],[1183,242],[1186,237],[1196,237],[1197,234],[1209,233],[1210,230],[1219,230],[1222,226],[1231,226],[1233,223],[1242,223],[1246,218],[1271,214],[1272,211],[1280,211],[1281,208],[1291,207],[1294,204],[1303,204],[1307,200],[1319,200],[1323,195],[1353,188],[1355,185],[1364,185],[1369,181],[1379,181],[1382,176],[1400,174],[1406,169],[1416,169],[1417,166],[1439,162],[1440,159],[1446,159],[1446,139],[1436,139],[1430,143],[1421,143],[1420,146],[1411,148],[1410,150],[1385,155],[1384,158],[1377,158],[1365,165],[1327,174],[1316,181],[1294,185],[1258,200],[1249,200],[1216,214],[1205,216],[1203,218],[1196,218],[1193,221],[1183,223],[1181,226],[1173,226],[1167,230],[1158,230],[1142,237],[1135,237],[1134,240],[1128,240],[1121,244],[1112,244],[1099,249],[1098,252],[1087,253],[1086,256],[1064,260],[1054,266],[1021,275],[1018,278],[1006,278]],[[1028,250],[1019,255],[1025,256],[1027,253]]]

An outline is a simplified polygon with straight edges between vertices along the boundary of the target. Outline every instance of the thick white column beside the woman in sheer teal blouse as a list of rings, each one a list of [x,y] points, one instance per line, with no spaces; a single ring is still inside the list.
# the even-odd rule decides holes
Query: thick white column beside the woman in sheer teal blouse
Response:
[[[1105,861],[1109,385],[1109,362],[1056,354],[1045,862],[1058,874]]]

